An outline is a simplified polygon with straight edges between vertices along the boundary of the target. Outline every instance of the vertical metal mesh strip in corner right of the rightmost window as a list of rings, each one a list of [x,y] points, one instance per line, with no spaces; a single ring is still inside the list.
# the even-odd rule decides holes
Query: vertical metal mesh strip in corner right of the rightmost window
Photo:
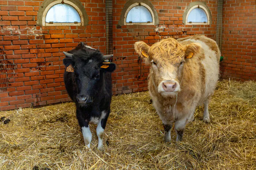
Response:
[[[218,0],[216,42],[220,50],[221,50],[221,43],[222,43],[222,11],[223,11],[223,0]]]

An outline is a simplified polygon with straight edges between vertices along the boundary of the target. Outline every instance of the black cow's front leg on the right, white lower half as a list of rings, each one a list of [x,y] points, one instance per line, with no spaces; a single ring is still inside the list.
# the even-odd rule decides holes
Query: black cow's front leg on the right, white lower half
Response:
[[[106,122],[108,120],[108,116],[109,116],[109,111],[106,113],[106,111],[102,111],[102,114],[105,114],[105,117],[102,118],[98,125],[97,125],[97,136],[98,136],[98,149],[99,150],[104,150],[103,147],[103,136],[104,136],[104,129],[106,127]]]

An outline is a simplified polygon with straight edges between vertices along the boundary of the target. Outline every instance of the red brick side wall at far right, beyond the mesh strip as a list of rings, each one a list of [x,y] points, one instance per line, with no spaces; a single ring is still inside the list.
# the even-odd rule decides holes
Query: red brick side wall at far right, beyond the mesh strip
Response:
[[[256,80],[255,0],[224,0],[222,77]]]

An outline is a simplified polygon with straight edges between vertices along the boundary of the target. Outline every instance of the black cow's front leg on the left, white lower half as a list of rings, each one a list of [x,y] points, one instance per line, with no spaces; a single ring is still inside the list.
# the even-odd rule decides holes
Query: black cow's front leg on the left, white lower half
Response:
[[[89,121],[85,120],[79,110],[76,110],[76,117],[78,119],[78,123],[81,127],[81,131],[83,134],[84,143],[87,146],[87,148],[90,148],[91,143],[91,131],[89,127]]]

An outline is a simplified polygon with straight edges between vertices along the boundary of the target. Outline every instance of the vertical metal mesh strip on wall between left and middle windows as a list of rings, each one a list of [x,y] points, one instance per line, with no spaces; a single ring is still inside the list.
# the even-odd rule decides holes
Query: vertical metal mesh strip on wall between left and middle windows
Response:
[[[107,54],[112,54],[113,49],[113,30],[112,30],[112,0],[106,0],[106,41]]]

